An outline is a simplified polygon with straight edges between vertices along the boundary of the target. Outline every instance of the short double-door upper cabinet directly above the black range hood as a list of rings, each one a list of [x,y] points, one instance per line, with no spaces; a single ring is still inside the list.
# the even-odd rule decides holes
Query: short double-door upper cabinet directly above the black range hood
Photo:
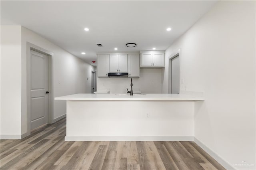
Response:
[[[109,55],[109,72],[128,72],[127,54]]]

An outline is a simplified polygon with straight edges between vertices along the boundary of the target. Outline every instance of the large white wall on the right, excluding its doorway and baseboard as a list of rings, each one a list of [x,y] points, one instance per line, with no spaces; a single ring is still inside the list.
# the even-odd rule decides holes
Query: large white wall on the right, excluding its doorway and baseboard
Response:
[[[205,92],[195,137],[237,169],[256,168],[255,45],[255,1],[222,1],[166,50],[181,49],[181,90]]]

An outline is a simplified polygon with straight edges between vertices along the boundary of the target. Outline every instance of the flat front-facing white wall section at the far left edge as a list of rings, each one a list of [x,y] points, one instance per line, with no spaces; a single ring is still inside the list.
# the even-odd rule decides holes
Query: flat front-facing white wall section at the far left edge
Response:
[[[21,26],[1,26],[1,136],[21,131]]]

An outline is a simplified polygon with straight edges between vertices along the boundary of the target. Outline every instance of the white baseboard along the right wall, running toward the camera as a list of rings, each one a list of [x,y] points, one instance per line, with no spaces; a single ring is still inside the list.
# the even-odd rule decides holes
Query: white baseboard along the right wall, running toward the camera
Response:
[[[219,162],[224,168],[227,170],[235,170],[236,168],[229,164],[226,160],[224,160],[221,156],[216,154],[213,150],[208,148],[205,144],[203,144],[200,140],[198,140],[196,137],[194,137],[194,142],[200,146],[205,152],[207,152],[212,158],[214,158],[217,162]]]

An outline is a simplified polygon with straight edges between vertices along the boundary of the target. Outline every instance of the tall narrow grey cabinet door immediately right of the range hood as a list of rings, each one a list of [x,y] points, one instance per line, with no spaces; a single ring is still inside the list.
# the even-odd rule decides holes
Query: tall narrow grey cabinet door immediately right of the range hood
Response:
[[[129,77],[140,77],[140,65],[139,55],[129,54],[128,55],[128,73]]]

